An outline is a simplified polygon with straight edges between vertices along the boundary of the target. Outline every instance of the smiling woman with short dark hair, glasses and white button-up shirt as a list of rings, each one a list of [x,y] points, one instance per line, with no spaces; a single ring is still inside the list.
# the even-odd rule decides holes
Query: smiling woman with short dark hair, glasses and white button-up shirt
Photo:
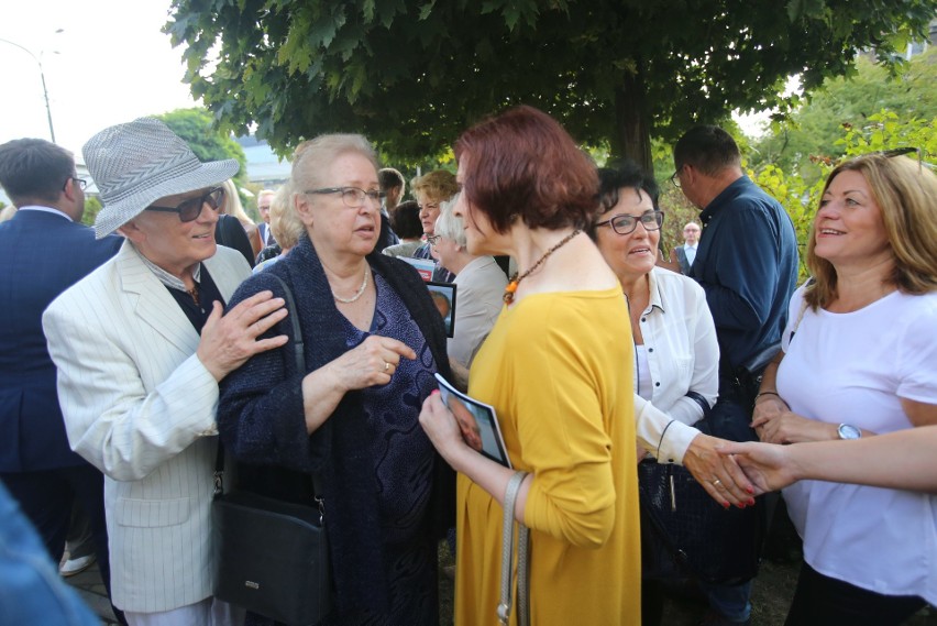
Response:
[[[599,169],[598,178],[600,207],[589,234],[628,299],[638,458],[647,453],[659,463],[684,465],[726,508],[751,506],[751,484],[736,461],[723,455],[731,462],[719,462],[716,450],[724,440],[693,428],[716,402],[719,347],[703,288],[655,265],[664,217],[657,184],[630,162]],[[728,488],[719,491],[719,484]],[[644,624],[659,620],[662,596],[649,579],[642,605]]]

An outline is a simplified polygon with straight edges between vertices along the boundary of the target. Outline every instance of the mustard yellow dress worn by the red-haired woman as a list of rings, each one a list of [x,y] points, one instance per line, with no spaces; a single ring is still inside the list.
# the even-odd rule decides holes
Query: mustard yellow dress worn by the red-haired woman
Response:
[[[537,294],[501,310],[472,364],[468,394],[534,476],[531,626],[641,623],[632,350],[620,289]],[[458,497],[455,624],[490,626],[501,506],[462,474]]]

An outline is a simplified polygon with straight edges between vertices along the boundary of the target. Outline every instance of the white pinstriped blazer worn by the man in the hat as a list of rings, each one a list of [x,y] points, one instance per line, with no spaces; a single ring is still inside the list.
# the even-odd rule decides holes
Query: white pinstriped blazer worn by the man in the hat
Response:
[[[218,249],[222,296],[250,275]],[[71,448],[106,474],[113,602],[141,613],[211,595],[218,384],[199,337],[129,243],[43,316]]]

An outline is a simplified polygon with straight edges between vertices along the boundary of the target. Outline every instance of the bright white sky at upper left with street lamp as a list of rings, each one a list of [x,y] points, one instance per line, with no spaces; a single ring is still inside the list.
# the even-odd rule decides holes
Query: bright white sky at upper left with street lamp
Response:
[[[42,62],[56,143],[80,158],[98,131],[195,107],[181,47],[161,32],[170,0],[9,0],[0,40]],[[56,32],[62,30],[62,32]],[[49,139],[38,64],[0,41],[0,143]]]

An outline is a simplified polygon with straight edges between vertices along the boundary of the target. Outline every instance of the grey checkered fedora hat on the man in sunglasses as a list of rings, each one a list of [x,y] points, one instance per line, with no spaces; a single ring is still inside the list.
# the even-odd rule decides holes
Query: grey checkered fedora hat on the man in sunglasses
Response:
[[[238,173],[238,161],[202,163],[185,141],[153,118],[110,127],[81,149],[101,193],[95,233],[106,237],[155,200],[211,187]]]

